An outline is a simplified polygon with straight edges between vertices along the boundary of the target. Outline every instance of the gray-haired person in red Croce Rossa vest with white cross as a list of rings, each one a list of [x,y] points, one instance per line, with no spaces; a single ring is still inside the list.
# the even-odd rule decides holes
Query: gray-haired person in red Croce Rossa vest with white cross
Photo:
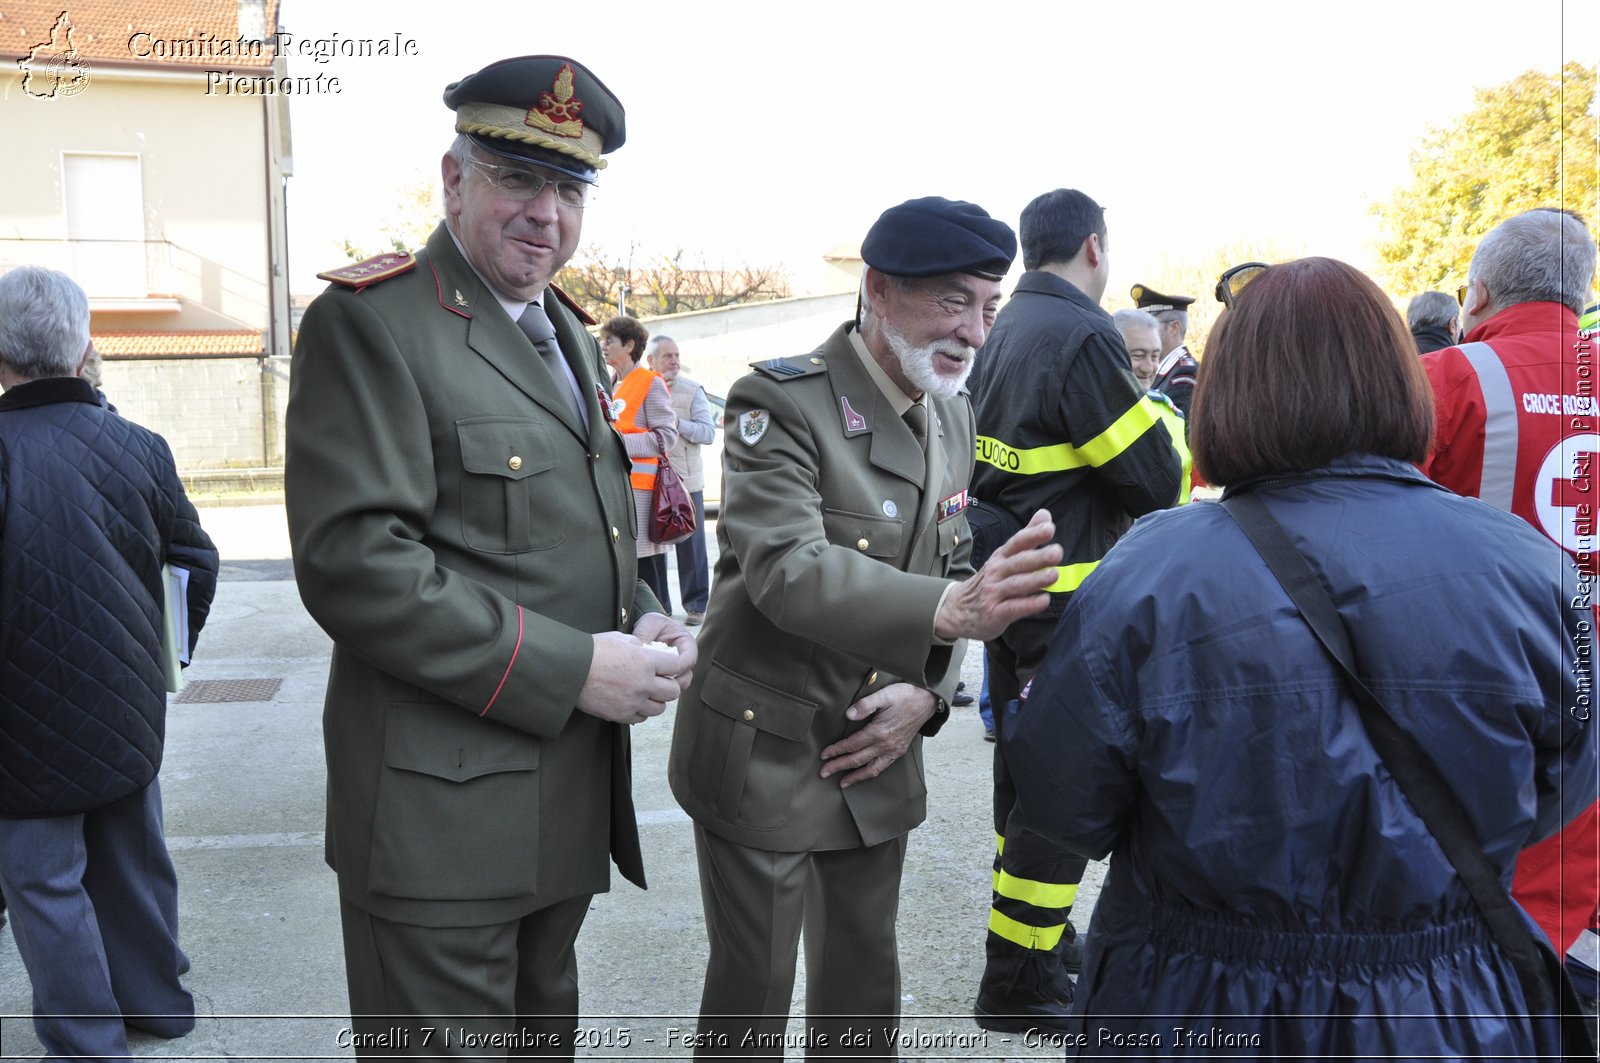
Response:
[[[1539,208],[1478,243],[1462,298],[1464,343],[1422,355],[1437,431],[1422,471],[1456,491],[1517,514],[1594,573],[1600,451],[1594,341],[1578,314],[1595,274],[1582,218]],[[1589,588],[1589,589],[1586,589]],[[1594,604],[1574,588],[1573,608]],[[1566,951],[1600,905],[1600,808],[1517,860],[1512,897],[1555,949]]]

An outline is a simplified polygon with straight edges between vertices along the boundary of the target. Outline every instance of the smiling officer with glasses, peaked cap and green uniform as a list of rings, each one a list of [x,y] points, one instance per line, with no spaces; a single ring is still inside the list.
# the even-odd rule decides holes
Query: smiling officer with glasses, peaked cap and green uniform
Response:
[[[357,1055],[571,1058],[608,856],[645,884],[629,727],[696,648],[637,580],[600,352],[549,287],[622,107],[560,56],[445,102],[445,223],[416,258],[325,274],[294,349],[294,575],[334,642],[328,863]]]

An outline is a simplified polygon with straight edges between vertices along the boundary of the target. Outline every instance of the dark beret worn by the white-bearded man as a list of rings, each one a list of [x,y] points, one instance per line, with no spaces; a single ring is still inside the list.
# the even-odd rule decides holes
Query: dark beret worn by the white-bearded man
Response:
[[[1013,258],[1011,226],[976,203],[939,195],[890,207],[861,242],[861,261],[894,277],[978,274],[1000,280]]]

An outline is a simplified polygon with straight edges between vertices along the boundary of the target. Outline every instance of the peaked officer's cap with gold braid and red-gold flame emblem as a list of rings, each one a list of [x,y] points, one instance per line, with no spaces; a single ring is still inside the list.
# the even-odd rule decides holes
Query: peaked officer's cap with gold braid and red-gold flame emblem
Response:
[[[566,56],[491,62],[445,88],[456,131],[485,150],[594,181],[600,155],[622,146],[622,104]]]

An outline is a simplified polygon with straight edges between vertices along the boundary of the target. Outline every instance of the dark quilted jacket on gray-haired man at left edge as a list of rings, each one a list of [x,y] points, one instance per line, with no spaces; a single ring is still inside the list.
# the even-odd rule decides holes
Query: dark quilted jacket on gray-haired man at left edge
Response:
[[[155,778],[165,562],[190,570],[194,648],[218,556],[166,440],[82,379],[0,395],[0,816],[88,812]]]

